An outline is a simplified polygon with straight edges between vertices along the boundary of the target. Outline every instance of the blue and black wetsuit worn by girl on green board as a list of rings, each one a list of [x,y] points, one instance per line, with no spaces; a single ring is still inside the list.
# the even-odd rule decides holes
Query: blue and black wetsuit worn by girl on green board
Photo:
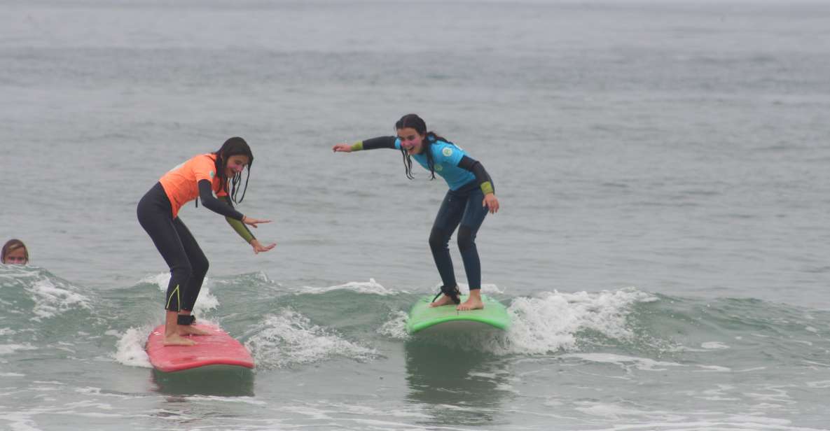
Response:
[[[481,206],[481,202],[487,193],[494,192],[493,182],[481,163],[467,156],[457,145],[436,140],[432,135],[427,136],[423,145],[424,151],[413,154],[412,157],[427,171],[430,170],[432,161],[434,172],[450,186],[429,235],[432,258],[435,259],[444,286],[455,288],[456,276],[447,245],[452,233],[458,228],[458,249],[464,261],[467,283],[470,290],[480,289],[481,261],[476,249],[476,233],[487,215],[487,208]],[[400,149],[401,141],[395,136],[384,136],[352,145],[352,151],[375,148]],[[427,151],[432,160],[427,156]]]

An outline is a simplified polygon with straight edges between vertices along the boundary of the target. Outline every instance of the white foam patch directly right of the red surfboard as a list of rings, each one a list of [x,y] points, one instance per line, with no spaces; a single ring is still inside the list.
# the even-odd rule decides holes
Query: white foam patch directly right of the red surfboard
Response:
[[[278,315],[267,316],[259,326],[263,329],[245,343],[255,356],[258,366],[307,364],[334,356],[368,361],[378,356],[374,349],[344,340],[291,309],[286,308]]]

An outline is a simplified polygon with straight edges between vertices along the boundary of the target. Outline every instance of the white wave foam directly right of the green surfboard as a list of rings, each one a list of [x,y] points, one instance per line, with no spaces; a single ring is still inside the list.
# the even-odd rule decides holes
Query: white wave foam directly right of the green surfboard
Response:
[[[508,312],[511,353],[546,354],[573,351],[576,333],[590,329],[607,337],[627,340],[627,314],[634,303],[655,300],[636,288],[615,292],[545,292],[535,298],[515,298]]]

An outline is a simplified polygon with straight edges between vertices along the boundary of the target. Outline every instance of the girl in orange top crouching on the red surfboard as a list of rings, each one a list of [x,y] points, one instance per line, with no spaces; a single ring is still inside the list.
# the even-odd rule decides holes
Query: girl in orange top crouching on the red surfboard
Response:
[[[183,336],[205,333],[192,327],[195,318],[191,312],[207,274],[208,263],[196,239],[178,217],[178,210],[184,204],[200,198],[208,210],[225,216],[233,229],[253,247],[254,253],[268,251],[276,245],[261,245],[246,226],[256,227],[271,220],[254,219],[233,208],[232,202],[242,202],[245,198],[247,177],[245,190],[238,201],[237,192],[242,182],[242,171],[248,167],[250,177],[253,161],[251,148],[245,140],[230,138],[216,153],[199,154],[174,167],[139,201],[136,211],[139,223],[170,267],[170,283],[164,303],[167,310],[164,319],[165,345],[192,346],[196,343]]]

